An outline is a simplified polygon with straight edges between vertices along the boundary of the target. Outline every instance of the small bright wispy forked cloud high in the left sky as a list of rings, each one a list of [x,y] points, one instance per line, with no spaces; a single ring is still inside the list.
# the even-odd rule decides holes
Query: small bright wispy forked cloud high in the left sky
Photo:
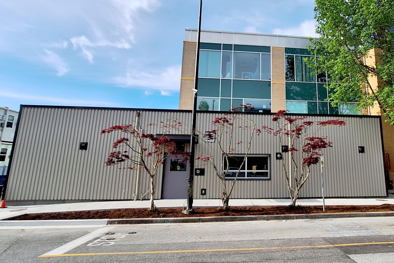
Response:
[[[97,42],[91,42],[84,35],[81,35],[80,37],[72,37],[70,40],[74,46],[74,49],[76,49],[78,46],[82,49],[82,55],[85,56],[85,58],[89,60],[90,63],[93,63],[93,54],[90,50],[87,50],[86,47],[130,48],[130,45],[124,39],[118,42],[110,42],[105,39],[100,39]]]

